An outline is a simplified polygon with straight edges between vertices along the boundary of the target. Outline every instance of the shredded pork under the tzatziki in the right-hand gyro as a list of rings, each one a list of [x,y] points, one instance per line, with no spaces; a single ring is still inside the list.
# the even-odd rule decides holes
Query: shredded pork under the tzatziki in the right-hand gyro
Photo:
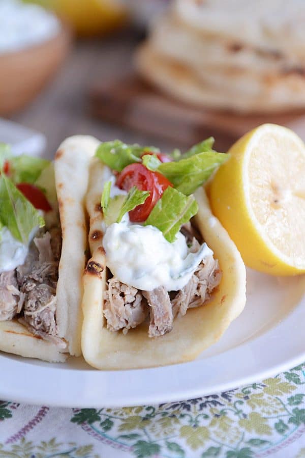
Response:
[[[189,251],[200,249],[201,235],[189,223],[182,226]],[[104,316],[111,331],[129,329],[140,325],[149,313],[149,337],[162,336],[172,330],[173,319],[183,316],[189,308],[203,305],[219,285],[222,272],[212,255],[202,261],[188,284],[180,291],[168,292],[163,286],[153,291],[140,291],[111,278],[106,283]]]

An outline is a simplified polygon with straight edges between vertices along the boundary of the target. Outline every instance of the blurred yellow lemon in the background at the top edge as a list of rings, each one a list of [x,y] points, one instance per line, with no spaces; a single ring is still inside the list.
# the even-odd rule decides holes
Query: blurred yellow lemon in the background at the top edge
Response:
[[[125,23],[126,9],[120,0],[25,0],[49,8],[81,36],[111,32]]]

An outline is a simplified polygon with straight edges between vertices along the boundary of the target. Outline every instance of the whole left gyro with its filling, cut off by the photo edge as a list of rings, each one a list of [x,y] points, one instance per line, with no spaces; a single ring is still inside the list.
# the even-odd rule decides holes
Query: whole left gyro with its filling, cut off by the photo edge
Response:
[[[81,355],[84,196],[97,145],[70,138],[54,164],[0,146],[0,351]]]

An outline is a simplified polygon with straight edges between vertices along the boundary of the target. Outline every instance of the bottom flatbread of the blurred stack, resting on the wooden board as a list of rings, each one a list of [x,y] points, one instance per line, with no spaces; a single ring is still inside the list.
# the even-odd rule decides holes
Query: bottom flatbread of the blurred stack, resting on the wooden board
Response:
[[[255,79],[249,73],[228,70],[198,72],[158,55],[149,43],[136,55],[139,72],[151,84],[178,100],[210,109],[238,113],[272,113],[305,106],[305,80],[297,73]]]

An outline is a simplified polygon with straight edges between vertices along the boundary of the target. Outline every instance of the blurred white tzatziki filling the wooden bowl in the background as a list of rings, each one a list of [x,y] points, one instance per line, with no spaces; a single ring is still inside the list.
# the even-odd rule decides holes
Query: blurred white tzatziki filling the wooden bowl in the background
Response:
[[[38,5],[0,0],[0,54],[47,41],[60,27],[56,16]]]

